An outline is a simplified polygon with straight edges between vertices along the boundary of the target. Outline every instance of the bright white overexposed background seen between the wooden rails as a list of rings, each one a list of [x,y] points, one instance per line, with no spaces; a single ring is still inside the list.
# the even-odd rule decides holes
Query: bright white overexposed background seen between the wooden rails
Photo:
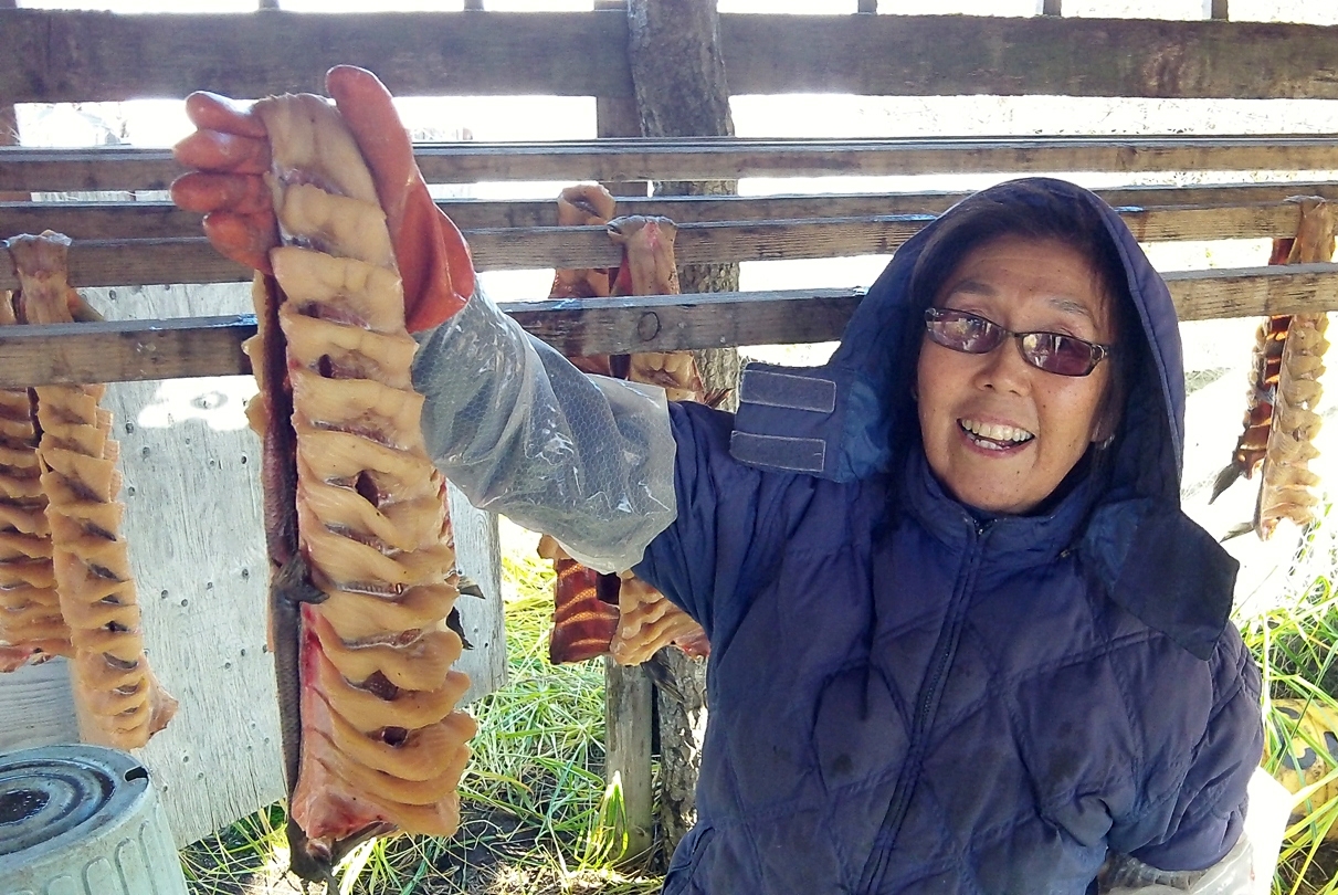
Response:
[[[183,4],[177,0],[104,0],[103,3],[62,3],[59,0],[19,0],[20,7],[110,9],[123,13],[248,13],[254,0],[207,0]],[[557,0],[487,0],[490,11],[581,11],[590,3]],[[392,11],[452,11],[460,3],[387,0],[369,4],[353,0],[281,0],[285,11],[309,15],[347,15]],[[850,15],[855,0],[720,0],[727,13]],[[1032,16],[1037,0],[880,0],[880,15]],[[1231,0],[1234,20],[1297,21],[1338,24],[1338,4],[1311,0]],[[1065,16],[1202,19],[1203,0],[1064,0]],[[209,88],[210,84],[199,84]],[[405,126],[416,140],[535,140],[589,139],[595,136],[593,98],[570,96],[458,96],[399,98]],[[1338,132],[1338,102],[1333,100],[1156,100],[1056,96],[895,96],[784,95],[732,99],[739,136],[772,138],[895,138],[895,136],[1026,136],[1098,134],[1274,134]],[[72,147],[127,144],[171,146],[190,131],[179,99],[143,99],[126,103],[29,104],[17,107],[19,138],[25,146]],[[1058,173],[1084,186],[1127,186],[1135,183],[1193,183],[1250,179],[1334,179],[1334,171],[1302,173],[1157,173],[1116,175]],[[978,189],[1005,179],[1004,175],[947,177],[832,177],[832,178],[751,178],[739,185],[743,194],[919,191]],[[435,187],[439,195],[476,198],[550,198],[566,183],[476,183]],[[126,197],[130,198],[130,197]],[[145,194],[143,198],[161,198]],[[1163,270],[1235,268],[1267,261],[1268,241],[1180,242],[1148,246],[1148,254]],[[886,257],[830,258],[816,261],[745,262],[741,288],[793,289],[864,286],[872,282]],[[551,270],[487,272],[480,276],[484,289],[498,301],[534,300],[546,296]],[[1226,320],[1185,324],[1185,360],[1195,383],[1188,409],[1185,491],[1189,511],[1215,534],[1248,520],[1252,514],[1252,484],[1242,484],[1211,510],[1207,487],[1224,464],[1239,432],[1244,408],[1246,379],[1251,357],[1254,320]],[[822,363],[831,345],[747,348],[748,356],[784,363]],[[253,388],[240,380],[214,388],[217,393]],[[173,389],[181,393],[173,392]],[[145,409],[146,425],[167,424],[183,413],[211,420],[218,428],[240,427],[244,395],[231,395],[213,407],[201,407],[199,388],[163,385],[161,400]],[[1338,387],[1333,387],[1338,392]],[[175,409],[174,409],[175,408]],[[1331,435],[1333,427],[1330,427]],[[1321,447],[1331,441],[1321,436]],[[1322,475],[1338,474],[1327,459],[1315,464]],[[1254,538],[1238,538],[1231,550],[1247,561],[1243,590],[1250,582],[1266,582],[1290,547],[1259,544]]]

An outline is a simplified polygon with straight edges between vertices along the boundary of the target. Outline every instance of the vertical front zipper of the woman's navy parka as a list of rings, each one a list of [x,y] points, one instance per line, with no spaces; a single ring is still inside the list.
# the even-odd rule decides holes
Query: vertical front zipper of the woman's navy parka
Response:
[[[971,549],[966,555],[962,571],[958,574],[953,599],[943,614],[943,630],[939,631],[934,654],[938,657],[933,672],[926,677],[926,684],[921,688],[919,706],[915,710],[915,720],[911,726],[910,748],[906,753],[906,764],[902,767],[896,788],[892,789],[891,801],[883,823],[879,824],[878,835],[874,836],[874,847],[859,878],[856,888],[862,895],[875,895],[878,886],[887,872],[887,860],[896,841],[906,811],[910,808],[911,793],[919,781],[921,763],[925,760],[926,740],[930,725],[938,710],[938,701],[942,696],[942,684],[953,656],[957,653],[958,641],[962,638],[962,619],[966,614],[966,605],[975,583],[975,573],[979,570],[981,554],[983,553],[985,538],[989,534],[989,523],[970,522],[973,528]]]

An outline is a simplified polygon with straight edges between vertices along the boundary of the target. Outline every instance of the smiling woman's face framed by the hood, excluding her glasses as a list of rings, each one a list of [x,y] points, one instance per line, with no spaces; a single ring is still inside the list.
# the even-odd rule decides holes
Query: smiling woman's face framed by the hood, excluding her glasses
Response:
[[[1092,264],[1053,239],[1005,235],[962,258],[937,308],[965,310],[1012,332],[1056,332],[1113,341],[1109,301]],[[1032,367],[1017,340],[963,355],[926,337],[917,368],[925,455],[958,500],[989,512],[1025,514],[1111,435],[1104,412],[1111,363],[1088,376]]]

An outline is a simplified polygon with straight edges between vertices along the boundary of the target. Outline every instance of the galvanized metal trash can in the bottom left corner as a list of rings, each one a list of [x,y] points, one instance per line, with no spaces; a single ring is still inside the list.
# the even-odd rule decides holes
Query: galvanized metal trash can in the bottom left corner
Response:
[[[0,755],[0,895],[186,895],[143,765],[91,745]]]

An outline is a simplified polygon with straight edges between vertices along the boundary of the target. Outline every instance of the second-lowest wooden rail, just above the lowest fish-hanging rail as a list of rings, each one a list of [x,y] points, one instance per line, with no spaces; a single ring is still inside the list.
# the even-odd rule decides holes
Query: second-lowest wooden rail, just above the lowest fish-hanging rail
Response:
[[[1290,237],[1297,211],[1290,205],[1140,209],[1124,211],[1139,239],[1242,239]],[[890,254],[933,215],[685,223],[678,227],[678,264],[780,261]],[[466,230],[478,270],[601,268],[622,260],[603,227],[512,227]],[[238,282],[252,272],[217,254],[203,237],[76,242],[70,250],[71,282],[169,285]],[[0,269],[0,289],[13,289],[13,272]]]

